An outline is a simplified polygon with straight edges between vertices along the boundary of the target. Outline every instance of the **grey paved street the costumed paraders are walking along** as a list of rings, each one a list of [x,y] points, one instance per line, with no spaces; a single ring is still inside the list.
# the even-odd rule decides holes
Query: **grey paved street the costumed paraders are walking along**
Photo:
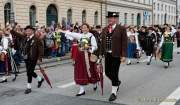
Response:
[[[38,89],[34,80],[32,94],[24,95],[26,74],[21,73],[15,82],[9,79],[8,83],[0,84],[0,105],[174,105],[180,99],[179,58],[180,55],[174,53],[169,69],[164,69],[163,63],[155,60],[150,66],[146,63],[123,64],[119,72],[122,85],[114,103],[107,101],[111,84],[106,77],[103,96],[100,88],[94,92],[92,85],[88,85],[85,96],[75,97],[78,88],[73,82],[73,66],[70,60],[60,61],[51,64],[57,66],[46,68],[52,89],[45,82]],[[165,102],[161,102],[163,100]]]

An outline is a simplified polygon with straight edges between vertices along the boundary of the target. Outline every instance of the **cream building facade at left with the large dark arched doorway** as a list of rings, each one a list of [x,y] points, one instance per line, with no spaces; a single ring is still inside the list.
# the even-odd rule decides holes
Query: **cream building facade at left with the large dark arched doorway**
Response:
[[[10,22],[12,0],[0,0],[0,23]],[[22,26],[36,21],[40,26],[54,22],[67,24],[88,22],[105,25],[105,4],[102,0],[14,0],[15,21]]]

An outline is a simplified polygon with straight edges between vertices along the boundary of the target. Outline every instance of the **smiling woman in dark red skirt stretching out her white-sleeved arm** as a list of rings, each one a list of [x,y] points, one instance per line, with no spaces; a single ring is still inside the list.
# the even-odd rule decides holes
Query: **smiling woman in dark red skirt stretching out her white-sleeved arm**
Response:
[[[96,62],[92,62],[90,57],[97,49],[96,39],[92,33],[89,32],[90,26],[86,23],[82,24],[82,34],[75,32],[62,31],[68,39],[76,39],[79,42],[78,53],[74,64],[74,78],[77,85],[79,85],[79,92],[76,96],[85,95],[84,86],[92,83],[94,88],[97,88],[99,81],[98,73],[96,71]]]

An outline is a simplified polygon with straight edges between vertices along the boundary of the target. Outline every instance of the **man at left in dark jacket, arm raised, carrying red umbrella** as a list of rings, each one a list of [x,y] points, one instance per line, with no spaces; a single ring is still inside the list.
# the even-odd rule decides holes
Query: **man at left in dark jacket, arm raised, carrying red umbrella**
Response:
[[[38,80],[38,88],[41,87],[44,81],[42,77],[38,76],[34,72],[36,64],[42,62],[43,44],[39,38],[35,37],[35,29],[32,26],[26,26],[24,30],[25,35],[20,34],[14,30],[11,30],[11,34],[24,39],[23,57],[27,71],[27,89],[24,93],[29,94],[31,93],[32,77]]]

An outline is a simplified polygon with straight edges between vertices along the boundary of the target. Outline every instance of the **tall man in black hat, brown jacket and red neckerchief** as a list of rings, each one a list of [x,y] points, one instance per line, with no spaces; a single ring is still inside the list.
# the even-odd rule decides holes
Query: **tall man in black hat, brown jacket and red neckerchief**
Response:
[[[101,34],[102,54],[105,55],[105,74],[111,80],[112,93],[109,101],[117,98],[121,81],[119,80],[119,67],[125,62],[127,54],[126,28],[118,24],[118,13],[108,12],[108,23]]]

